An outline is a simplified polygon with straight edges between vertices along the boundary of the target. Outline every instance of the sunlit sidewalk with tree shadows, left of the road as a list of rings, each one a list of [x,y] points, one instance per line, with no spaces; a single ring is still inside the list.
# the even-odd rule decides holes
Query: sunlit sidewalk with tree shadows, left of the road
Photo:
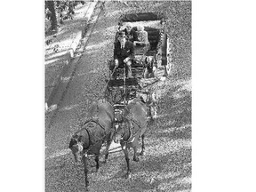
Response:
[[[64,20],[57,34],[45,36],[44,46],[44,101],[45,109],[54,95],[52,92],[61,80],[61,72],[69,68],[74,52],[84,36],[87,22],[92,17],[92,12],[97,1],[86,2],[76,6],[73,20]]]

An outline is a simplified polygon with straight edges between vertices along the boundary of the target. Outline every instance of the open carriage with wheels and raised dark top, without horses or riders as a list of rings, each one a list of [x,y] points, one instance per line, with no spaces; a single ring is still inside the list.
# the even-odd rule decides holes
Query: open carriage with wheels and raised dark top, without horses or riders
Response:
[[[164,17],[155,12],[125,14],[119,19],[119,28],[128,22],[135,31],[138,26],[144,27],[148,33],[150,46],[148,51],[143,53],[138,52],[135,46],[132,59],[132,78],[125,77],[125,68],[122,67],[116,68],[117,77],[111,79],[113,71],[109,70],[105,97],[114,105],[117,116],[118,113],[121,113],[122,108],[136,97],[143,98],[149,107],[148,115],[152,115],[150,106],[155,105],[156,92],[151,91],[150,85],[159,81],[161,76],[166,76],[171,69],[169,55],[171,47],[165,31]],[[114,60],[108,60],[108,66],[111,62]],[[153,113],[156,113],[156,108]]]

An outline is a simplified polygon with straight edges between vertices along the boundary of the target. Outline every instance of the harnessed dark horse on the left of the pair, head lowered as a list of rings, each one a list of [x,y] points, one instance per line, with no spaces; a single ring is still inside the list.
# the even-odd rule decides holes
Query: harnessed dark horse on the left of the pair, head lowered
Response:
[[[102,144],[107,141],[107,154],[105,162],[108,159],[108,149],[111,144],[113,133],[115,131],[114,108],[106,100],[100,100],[92,104],[89,111],[89,120],[86,121],[82,129],[76,132],[69,142],[75,160],[82,160],[84,163],[85,186],[89,186],[87,179],[87,155],[95,155],[96,172],[99,170],[99,156]]]

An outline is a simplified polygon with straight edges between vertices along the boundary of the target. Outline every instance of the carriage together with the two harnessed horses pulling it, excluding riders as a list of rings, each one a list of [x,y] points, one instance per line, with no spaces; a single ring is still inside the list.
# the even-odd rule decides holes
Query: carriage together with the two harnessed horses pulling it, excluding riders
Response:
[[[170,55],[168,55],[170,44],[164,31],[164,18],[152,12],[126,14],[119,20],[121,25],[125,25],[125,22],[132,23],[135,31],[142,23],[148,32],[150,48],[142,54],[137,50],[134,51],[132,78],[126,77],[125,67],[115,68],[117,73],[115,79],[111,78],[113,71],[109,71],[105,90],[107,102],[101,100],[92,105],[91,119],[83,124],[82,129],[75,133],[69,143],[75,159],[80,154],[84,161],[86,188],[89,185],[87,155],[90,153],[95,155],[96,171],[98,171],[100,148],[107,141],[105,154],[107,161],[112,139],[117,140],[121,145],[127,163],[126,177],[131,176],[127,148],[133,148],[133,160],[139,161],[136,152],[138,140],[141,138],[140,155],[143,155],[148,117],[156,116],[156,92],[153,92],[150,86],[159,81],[161,76],[166,76],[171,69]],[[109,60],[108,64],[111,62],[113,60]],[[114,124],[117,126],[113,126]]]

